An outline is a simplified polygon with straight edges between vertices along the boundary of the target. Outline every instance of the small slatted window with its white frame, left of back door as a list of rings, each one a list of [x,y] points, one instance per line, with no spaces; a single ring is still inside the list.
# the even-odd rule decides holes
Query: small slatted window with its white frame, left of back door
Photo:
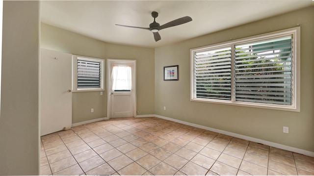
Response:
[[[73,91],[103,91],[103,73],[103,59],[73,55]]]

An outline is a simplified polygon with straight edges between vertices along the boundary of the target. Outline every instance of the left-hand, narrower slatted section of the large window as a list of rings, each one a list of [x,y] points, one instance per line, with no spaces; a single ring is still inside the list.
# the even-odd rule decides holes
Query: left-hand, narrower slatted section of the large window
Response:
[[[196,98],[231,100],[231,47],[194,53]]]

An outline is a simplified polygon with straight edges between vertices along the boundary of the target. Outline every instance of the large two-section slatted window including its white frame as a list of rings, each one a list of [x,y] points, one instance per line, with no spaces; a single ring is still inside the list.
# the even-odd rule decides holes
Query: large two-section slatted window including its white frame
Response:
[[[299,111],[299,27],[191,49],[191,101]]]

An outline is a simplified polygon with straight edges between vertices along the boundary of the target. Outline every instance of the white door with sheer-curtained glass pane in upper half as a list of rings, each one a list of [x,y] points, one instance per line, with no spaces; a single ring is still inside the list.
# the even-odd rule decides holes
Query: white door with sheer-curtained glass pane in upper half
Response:
[[[136,116],[136,61],[108,59],[108,118]]]

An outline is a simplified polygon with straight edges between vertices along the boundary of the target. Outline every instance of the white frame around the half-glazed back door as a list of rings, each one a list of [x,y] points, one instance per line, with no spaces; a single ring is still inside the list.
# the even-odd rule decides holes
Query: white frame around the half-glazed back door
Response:
[[[133,117],[136,117],[136,60],[131,59],[107,59],[107,118],[111,118],[111,63],[121,63],[127,64],[131,63],[134,65],[134,85],[132,89],[134,90],[134,100],[133,100]],[[132,78],[133,79],[133,78]]]

